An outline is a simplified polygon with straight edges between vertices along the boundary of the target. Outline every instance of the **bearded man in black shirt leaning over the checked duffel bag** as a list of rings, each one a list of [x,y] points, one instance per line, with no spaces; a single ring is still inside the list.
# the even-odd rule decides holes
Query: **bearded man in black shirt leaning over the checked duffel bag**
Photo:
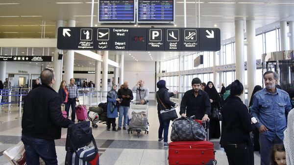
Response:
[[[209,121],[211,105],[209,96],[203,90],[200,90],[201,80],[194,78],[192,80],[192,90],[185,92],[180,107],[182,117],[191,117],[195,115],[196,119]]]

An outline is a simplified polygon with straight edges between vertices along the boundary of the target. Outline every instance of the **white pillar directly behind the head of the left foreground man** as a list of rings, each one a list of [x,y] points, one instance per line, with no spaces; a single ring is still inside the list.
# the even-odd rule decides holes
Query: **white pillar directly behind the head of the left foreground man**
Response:
[[[57,38],[57,31],[58,27],[64,26],[63,20],[57,20],[56,26],[55,26],[55,38]],[[55,91],[59,90],[60,83],[62,81],[62,61],[58,60],[58,54],[63,54],[62,50],[59,50],[55,48],[54,51],[54,58],[53,58],[53,70],[55,72],[55,83],[53,84],[53,89]],[[44,68],[47,68],[47,66],[44,66]],[[65,80],[68,84],[70,83],[70,80]]]

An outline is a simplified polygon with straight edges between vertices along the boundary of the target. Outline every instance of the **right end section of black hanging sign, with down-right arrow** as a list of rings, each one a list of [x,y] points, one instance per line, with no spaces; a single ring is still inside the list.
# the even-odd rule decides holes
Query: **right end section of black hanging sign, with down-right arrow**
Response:
[[[221,49],[221,30],[219,28],[199,28],[199,50],[219,51]]]

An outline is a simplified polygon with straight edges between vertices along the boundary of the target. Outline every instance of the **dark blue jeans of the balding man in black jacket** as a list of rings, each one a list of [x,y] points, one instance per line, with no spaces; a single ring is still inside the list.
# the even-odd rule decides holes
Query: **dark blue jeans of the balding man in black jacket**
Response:
[[[25,161],[27,165],[40,165],[41,157],[46,165],[57,165],[54,140],[31,138],[22,135],[25,144]]]

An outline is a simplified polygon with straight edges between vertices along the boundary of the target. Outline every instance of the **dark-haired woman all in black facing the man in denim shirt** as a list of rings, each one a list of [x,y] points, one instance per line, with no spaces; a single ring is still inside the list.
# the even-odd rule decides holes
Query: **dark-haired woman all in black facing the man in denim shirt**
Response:
[[[239,80],[231,84],[230,96],[222,108],[221,146],[229,165],[253,165],[250,132],[253,130],[247,106],[240,96],[244,87]]]

